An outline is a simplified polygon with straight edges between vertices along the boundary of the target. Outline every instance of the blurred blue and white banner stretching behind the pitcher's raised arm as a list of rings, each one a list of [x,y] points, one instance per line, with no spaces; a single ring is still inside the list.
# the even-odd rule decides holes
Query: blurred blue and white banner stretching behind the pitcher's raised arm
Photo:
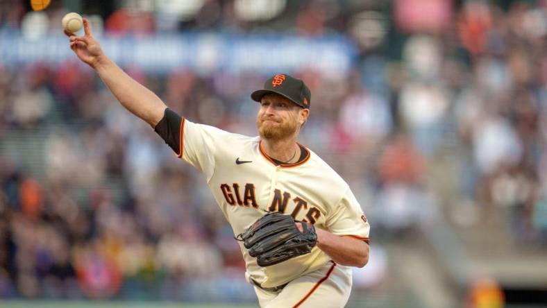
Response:
[[[323,74],[344,74],[354,64],[357,49],[343,36],[318,38],[293,35],[224,35],[187,33],[151,37],[98,38],[119,65],[153,73],[190,67],[212,71],[255,71],[271,74],[313,67]],[[30,39],[16,31],[0,31],[0,64],[17,67],[33,62],[58,63],[74,58],[65,35]]]

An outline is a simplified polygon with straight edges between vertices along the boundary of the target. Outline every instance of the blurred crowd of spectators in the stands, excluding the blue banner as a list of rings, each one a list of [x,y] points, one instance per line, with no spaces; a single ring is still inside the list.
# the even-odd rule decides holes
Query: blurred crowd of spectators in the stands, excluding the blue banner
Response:
[[[448,180],[451,206],[510,208],[515,239],[547,243],[547,1],[428,1],[437,3],[428,18],[412,10],[419,1],[299,1],[267,21],[238,15],[244,2],[205,1],[169,25],[342,33],[359,49],[346,75],[289,73],[312,89],[301,142],[349,182],[373,241],[435,219],[444,202],[435,182]],[[0,30],[18,29],[25,13],[0,10]],[[166,18],[122,7],[105,32],[153,35]],[[249,94],[268,76],[124,69],[191,121],[256,134]],[[9,148],[17,134],[36,136],[27,140],[43,150],[40,171]],[[454,168],[430,180],[446,157]],[[253,300],[243,271],[199,173],[89,67],[74,57],[15,70],[0,59],[0,298]]]

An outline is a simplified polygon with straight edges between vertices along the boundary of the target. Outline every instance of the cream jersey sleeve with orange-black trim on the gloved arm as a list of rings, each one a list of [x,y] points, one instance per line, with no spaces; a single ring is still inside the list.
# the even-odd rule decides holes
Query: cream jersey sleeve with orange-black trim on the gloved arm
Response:
[[[369,242],[369,221],[349,187],[333,209],[333,214],[327,217],[325,225],[333,234]]]

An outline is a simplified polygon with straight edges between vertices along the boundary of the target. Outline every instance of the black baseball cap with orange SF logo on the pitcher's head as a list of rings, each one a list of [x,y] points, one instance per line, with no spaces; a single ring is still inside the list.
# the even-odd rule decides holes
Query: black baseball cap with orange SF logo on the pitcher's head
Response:
[[[264,89],[256,90],[251,93],[251,99],[253,99],[253,101],[260,102],[262,100],[262,96],[271,93],[285,96],[287,99],[290,99],[296,103],[296,105],[299,105],[302,108],[310,109],[312,92],[310,92],[310,88],[305,85],[303,80],[294,78],[287,74],[277,74],[276,76],[266,80],[266,83],[264,83]]]

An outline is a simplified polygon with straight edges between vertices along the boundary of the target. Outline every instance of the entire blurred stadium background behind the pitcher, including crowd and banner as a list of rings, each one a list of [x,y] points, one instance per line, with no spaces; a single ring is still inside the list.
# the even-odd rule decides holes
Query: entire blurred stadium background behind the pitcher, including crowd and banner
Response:
[[[301,142],[371,222],[348,307],[547,307],[540,0],[0,0],[0,307],[257,306],[204,180],[69,50],[71,11],[192,121],[255,135],[251,91],[306,80]]]

